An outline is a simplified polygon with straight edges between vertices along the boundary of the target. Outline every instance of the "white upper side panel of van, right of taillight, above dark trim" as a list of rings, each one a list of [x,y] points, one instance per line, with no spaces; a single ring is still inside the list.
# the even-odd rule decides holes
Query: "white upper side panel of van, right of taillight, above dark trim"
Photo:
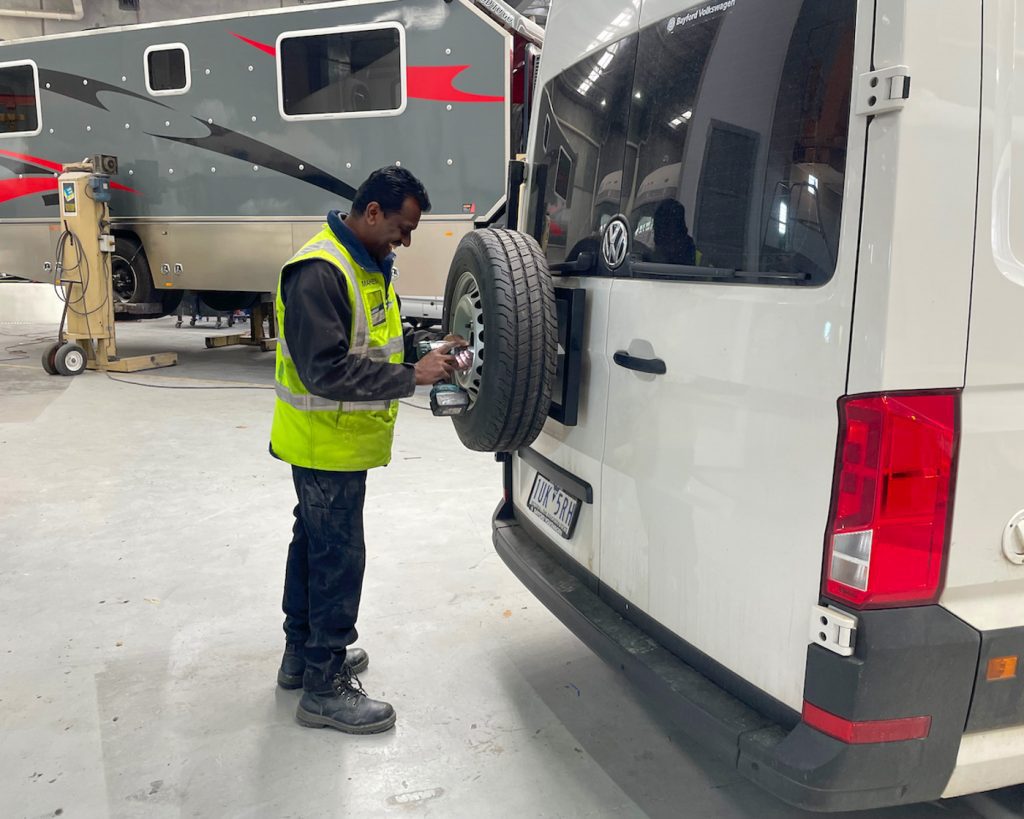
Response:
[[[985,3],[970,340],[941,599],[986,631],[1024,627],[1024,530],[1017,527],[1024,510],[1022,10],[1019,0]]]

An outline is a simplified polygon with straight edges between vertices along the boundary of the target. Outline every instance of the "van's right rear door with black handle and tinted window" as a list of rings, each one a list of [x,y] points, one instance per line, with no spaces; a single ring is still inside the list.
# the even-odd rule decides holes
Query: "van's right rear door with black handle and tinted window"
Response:
[[[601,578],[797,710],[849,361],[867,129],[850,98],[871,6],[646,0],[631,255],[608,315]]]

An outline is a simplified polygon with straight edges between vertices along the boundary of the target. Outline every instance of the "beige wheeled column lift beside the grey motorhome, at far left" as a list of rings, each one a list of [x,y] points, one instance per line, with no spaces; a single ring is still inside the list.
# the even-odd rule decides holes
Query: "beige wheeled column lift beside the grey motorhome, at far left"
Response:
[[[58,185],[63,232],[54,281],[63,289],[65,315],[59,341],[43,354],[43,369],[50,375],[77,376],[86,369],[135,373],[176,364],[173,352],[118,356],[111,278],[114,236],[108,232],[110,177],[95,173],[92,162],[76,163],[63,166]]]

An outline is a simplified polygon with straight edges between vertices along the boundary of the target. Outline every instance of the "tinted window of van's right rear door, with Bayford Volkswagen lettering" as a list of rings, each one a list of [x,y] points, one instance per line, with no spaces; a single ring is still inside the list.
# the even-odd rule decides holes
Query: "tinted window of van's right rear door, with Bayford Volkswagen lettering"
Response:
[[[738,0],[641,32],[634,254],[714,268],[719,282],[722,270],[787,285],[831,277],[855,15],[856,0]]]

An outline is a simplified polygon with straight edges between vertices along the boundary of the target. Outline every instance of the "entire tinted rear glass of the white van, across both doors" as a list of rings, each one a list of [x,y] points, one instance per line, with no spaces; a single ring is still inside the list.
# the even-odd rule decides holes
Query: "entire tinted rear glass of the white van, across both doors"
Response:
[[[708,2],[550,81],[534,155],[535,183],[546,180],[529,222],[549,260],[596,254],[624,214],[636,260],[711,268],[708,281],[826,282],[855,30],[856,0]]]

